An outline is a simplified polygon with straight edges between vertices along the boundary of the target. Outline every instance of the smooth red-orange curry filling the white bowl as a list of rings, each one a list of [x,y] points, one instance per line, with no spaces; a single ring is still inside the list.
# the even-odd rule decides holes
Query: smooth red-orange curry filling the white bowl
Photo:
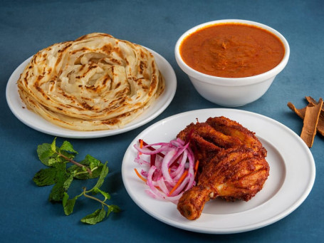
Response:
[[[248,24],[214,24],[184,38],[180,55],[188,66],[211,76],[242,78],[271,70],[283,59],[281,40]]]

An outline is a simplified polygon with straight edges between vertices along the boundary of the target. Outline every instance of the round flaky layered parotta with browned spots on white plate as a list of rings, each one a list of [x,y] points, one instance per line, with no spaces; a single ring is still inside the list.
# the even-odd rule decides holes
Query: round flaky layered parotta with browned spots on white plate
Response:
[[[90,33],[38,51],[18,81],[29,110],[63,128],[122,128],[164,90],[144,47]]]

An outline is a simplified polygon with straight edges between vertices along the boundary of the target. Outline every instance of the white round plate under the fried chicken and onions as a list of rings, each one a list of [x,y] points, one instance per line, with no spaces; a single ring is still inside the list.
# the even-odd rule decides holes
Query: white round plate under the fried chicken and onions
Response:
[[[139,138],[147,143],[169,142],[186,125],[209,117],[224,115],[256,133],[268,150],[266,160],[270,175],[263,190],[249,202],[207,202],[199,219],[189,221],[172,202],[155,200],[145,193],[147,185],[135,175],[136,150]],[[235,109],[193,110],[165,118],[144,130],[132,141],[122,160],[122,180],[132,200],[147,214],[174,227],[193,232],[229,234],[246,232],[286,217],[308,196],[315,180],[313,155],[303,140],[285,125],[263,115]]]

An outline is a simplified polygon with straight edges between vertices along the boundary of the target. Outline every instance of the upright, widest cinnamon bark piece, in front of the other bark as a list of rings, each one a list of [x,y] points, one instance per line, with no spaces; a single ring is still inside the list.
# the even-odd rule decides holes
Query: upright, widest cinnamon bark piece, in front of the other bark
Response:
[[[308,145],[308,148],[313,146],[322,106],[322,98],[320,98],[317,105],[313,106],[312,104],[309,104],[306,106],[301,138],[305,141],[306,145]]]

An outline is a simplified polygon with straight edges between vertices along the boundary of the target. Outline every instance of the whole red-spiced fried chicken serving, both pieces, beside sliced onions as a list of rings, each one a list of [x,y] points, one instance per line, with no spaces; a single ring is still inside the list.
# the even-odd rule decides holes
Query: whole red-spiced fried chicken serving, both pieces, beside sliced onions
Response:
[[[184,192],[177,204],[187,219],[199,218],[204,204],[215,197],[248,201],[263,188],[269,175],[266,149],[239,123],[209,118],[188,125],[178,136],[189,141],[201,171],[197,186]]]

